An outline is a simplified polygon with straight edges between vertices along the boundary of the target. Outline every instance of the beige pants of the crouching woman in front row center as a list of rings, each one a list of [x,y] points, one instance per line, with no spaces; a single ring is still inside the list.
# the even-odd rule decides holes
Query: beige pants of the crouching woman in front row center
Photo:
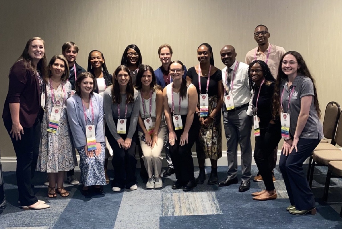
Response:
[[[157,144],[152,149],[144,141],[141,140],[141,136],[144,133],[138,132],[141,149],[143,151],[142,158],[144,159],[144,164],[148,173],[148,177],[151,178],[153,175],[159,177],[163,158],[161,156],[161,151],[163,150],[166,138],[166,125],[165,123],[160,123]]]

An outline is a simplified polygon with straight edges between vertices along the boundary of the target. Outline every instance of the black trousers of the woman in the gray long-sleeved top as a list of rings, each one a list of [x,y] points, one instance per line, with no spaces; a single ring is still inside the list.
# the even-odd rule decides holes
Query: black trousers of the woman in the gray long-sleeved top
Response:
[[[130,120],[130,118],[127,118],[127,132]],[[114,119],[114,122],[115,125],[117,125],[118,119]],[[113,149],[111,164],[114,168],[114,180],[111,182],[111,187],[118,187],[121,189],[126,187],[129,189],[132,185],[136,184],[135,169],[137,160],[135,158],[135,147],[138,140],[137,132],[134,133],[131,147],[128,150],[119,147],[118,142],[113,135],[111,135],[107,124],[105,125],[105,135],[110,147]],[[127,134],[120,134],[120,136],[123,140],[127,138]]]

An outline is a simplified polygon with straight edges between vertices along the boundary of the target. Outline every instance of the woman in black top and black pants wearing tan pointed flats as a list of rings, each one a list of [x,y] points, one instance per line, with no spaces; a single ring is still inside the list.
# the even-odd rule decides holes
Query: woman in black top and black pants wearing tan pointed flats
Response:
[[[277,198],[277,192],[273,185],[269,157],[273,157],[272,152],[281,139],[280,121],[272,119],[272,97],[275,82],[267,64],[261,60],[250,63],[248,75],[250,84],[255,83],[253,97],[254,160],[266,187],[261,192],[252,193],[253,200],[274,200]]]

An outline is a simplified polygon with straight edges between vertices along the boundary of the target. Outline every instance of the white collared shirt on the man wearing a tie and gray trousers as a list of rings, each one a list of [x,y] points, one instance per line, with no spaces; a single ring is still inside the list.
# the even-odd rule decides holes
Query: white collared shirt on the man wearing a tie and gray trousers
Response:
[[[235,65],[237,61],[234,62],[232,66],[229,68],[234,71]],[[234,106],[239,107],[246,103],[249,103],[247,114],[249,116],[253,115],[253,104],[251,91],[249,90],[249,80],[248,80],[248,65],[242,62],[239,62],[239,66],[236,69],[235,77],[234,77],[234,86],[233,90],[229,91],[229,95],[233,96]],[[222,69],[222,83],[223,87],[226,87],[226,75],[227,75],[227,67]],[[229,77],[229,74],[228,74]],[[233,77],[233,74],[231,74]],[[230,78],[229,78],[230,79]],[[231,80],[227,80],[231,84]],[[230,88],[228,86],[228,88]],[[226,92],[225,92],[226,93]],[[223,111],[226,111],[226,105],[223,103]]]

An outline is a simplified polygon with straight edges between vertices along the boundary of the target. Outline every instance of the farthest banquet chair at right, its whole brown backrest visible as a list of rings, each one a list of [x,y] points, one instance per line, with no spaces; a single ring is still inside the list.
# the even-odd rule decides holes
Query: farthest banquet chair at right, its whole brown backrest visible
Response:
[[[324,113],[324,120],[323,120],[323,133],[324,137],[326,139],[331,139],[330,143],[327,142],[326,139],[323,139],[315,150],[313,151],[313,154],[318,151],[322,151],[323,154],[326,153],[327,151],[339,151],[340,149],[337,148],[336,142],[337,142],[337,136],[336,134],[336,129],[337,125],[341,124],[342,122],[339,122],[339,119],[341,119],[341,107],[340,104],[337,102],[330,102],[328,103],[325,113]],[[339,128],[340,131],[342,131],[342,126]],[[341,136],[342,137],[342,136]],[[340,144],[339,144],[340,143]],[[340,142],[338,142],[339,145],[342,144],[342,139],[340,139]],[[342,145],[341,145],[342,146]],[[317,164],[316,161],[313,160],[313,154],[311,155],[309,159],[309,167],[307,170],[307,180],[309,181],[310,187],[312,186],[312,180],[313,180],[313,173],[316,166],[327,166],[328,164]]]

